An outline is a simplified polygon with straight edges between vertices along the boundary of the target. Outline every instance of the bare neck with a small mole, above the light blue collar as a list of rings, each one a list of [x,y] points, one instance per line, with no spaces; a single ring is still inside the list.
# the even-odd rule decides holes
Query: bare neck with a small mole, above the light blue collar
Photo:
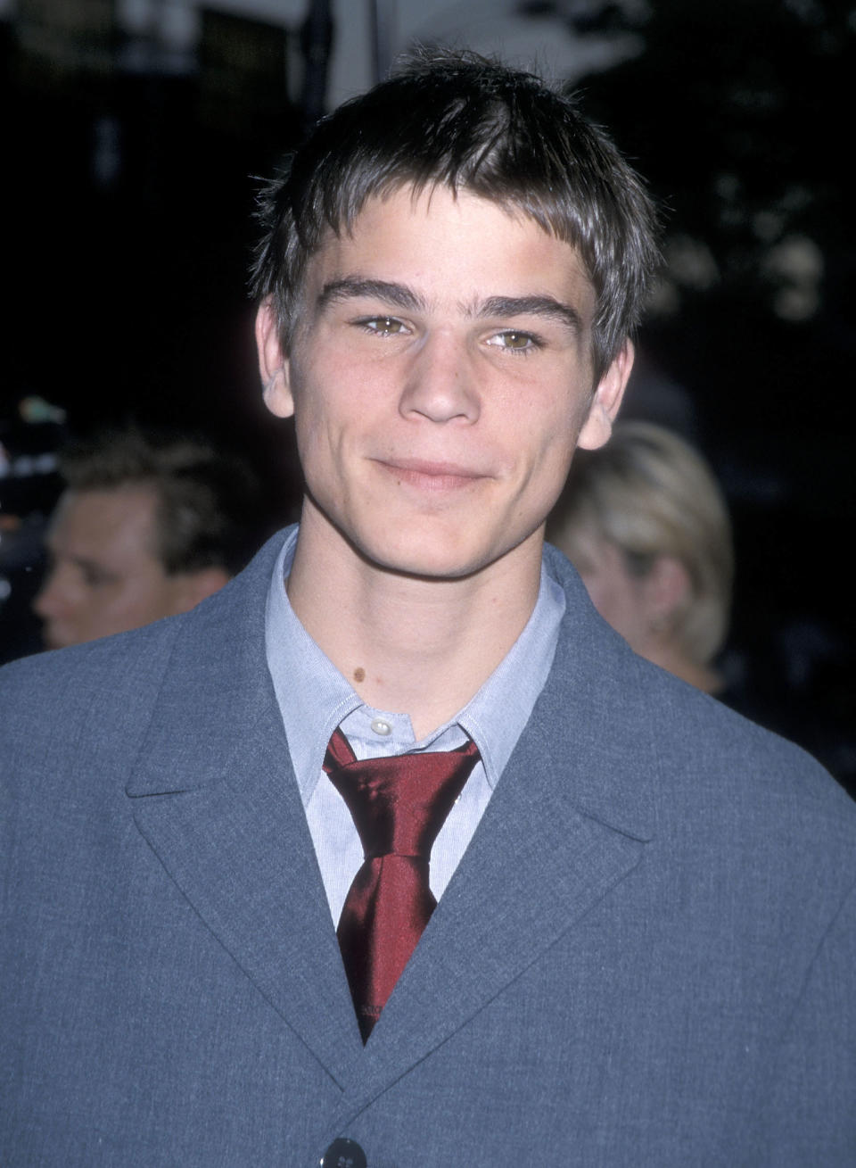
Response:
[[[408,714],[419,739],[466,705],[523,631],[542,542],[537,531],[466,577],[413,577],[370,563],[305,507],[288,599],[362,701]]]

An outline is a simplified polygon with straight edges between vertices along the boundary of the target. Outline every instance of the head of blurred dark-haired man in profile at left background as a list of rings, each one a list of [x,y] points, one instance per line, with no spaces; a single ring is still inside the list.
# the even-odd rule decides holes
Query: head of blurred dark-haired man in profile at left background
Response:
[[[255,477],[199,439],[111,432],[70,449],[60,468],[67,489],[34,602],[48,648],[187,612],[263,542]]]

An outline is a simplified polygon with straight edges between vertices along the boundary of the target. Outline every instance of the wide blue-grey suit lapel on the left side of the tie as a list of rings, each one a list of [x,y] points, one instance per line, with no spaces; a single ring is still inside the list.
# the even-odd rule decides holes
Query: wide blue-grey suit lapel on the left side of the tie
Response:
[[[202,920],[345,1085],[362,1043],[264,663],[276,550],[188,619],[127,793]]]

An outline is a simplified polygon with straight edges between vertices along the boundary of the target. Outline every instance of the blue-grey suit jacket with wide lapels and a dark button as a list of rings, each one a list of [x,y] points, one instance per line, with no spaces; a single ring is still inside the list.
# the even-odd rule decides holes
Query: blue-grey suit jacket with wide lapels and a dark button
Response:
[[[277,547],[1,675],[0,1162],[855,1163],[856,807],[552,552],[549,682],[363,1049],[265,667]]]

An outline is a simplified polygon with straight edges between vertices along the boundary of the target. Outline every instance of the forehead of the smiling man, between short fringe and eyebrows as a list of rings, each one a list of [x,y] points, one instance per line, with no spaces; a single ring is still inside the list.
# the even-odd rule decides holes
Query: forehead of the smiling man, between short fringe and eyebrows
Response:
[[[467,190],[405,186],[373,196],[350,229],[329,231],[309,259],[309,300],[359,273],[425,292],[437,303],[549,294],[591,322],[596,294],[577,250],[522,211]]]

